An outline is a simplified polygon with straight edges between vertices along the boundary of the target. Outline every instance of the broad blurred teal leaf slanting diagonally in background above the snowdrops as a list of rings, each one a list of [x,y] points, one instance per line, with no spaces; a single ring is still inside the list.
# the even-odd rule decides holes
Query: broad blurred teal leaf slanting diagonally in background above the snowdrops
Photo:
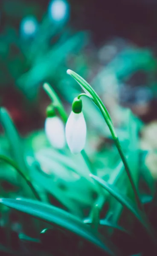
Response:
[[[80,36],[86,41],[87,35],[84,32],[76,33],[61,44],[55,44],[38,58],[38,61],[36,59],[32,68],[18,79],[20,87],[25,87],[31,93],[33,86],[37,88],[41,81],[47,80],[47,77],[56,76],[58,67],[64,63],[68,53],[79,46]]]

